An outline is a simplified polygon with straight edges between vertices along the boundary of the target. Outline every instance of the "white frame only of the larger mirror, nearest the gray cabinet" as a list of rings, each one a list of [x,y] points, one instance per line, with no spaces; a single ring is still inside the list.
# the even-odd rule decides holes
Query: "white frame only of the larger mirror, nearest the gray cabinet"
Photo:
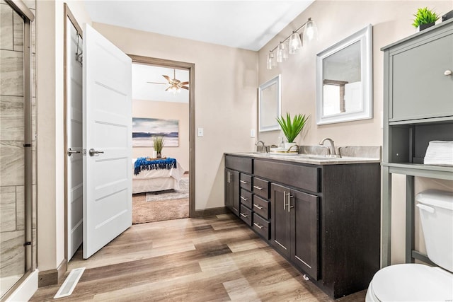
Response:
[[[362,110],[355,112],[341,112],[335,115],[323,116],[323,59],[331,54],[343,50],[345,47],[360,41],[360,61],[362,79]],[[367,120],[373,118],[373,47],[372,25],[346,37],[335,45],[316,54],[316,124],[333,124],[353,120]]]

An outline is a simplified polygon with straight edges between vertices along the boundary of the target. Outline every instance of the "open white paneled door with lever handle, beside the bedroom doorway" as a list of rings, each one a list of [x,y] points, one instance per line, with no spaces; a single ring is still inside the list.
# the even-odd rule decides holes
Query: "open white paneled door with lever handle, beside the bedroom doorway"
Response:
[[[132,225],[132,60],[84,27],[84,258]]]

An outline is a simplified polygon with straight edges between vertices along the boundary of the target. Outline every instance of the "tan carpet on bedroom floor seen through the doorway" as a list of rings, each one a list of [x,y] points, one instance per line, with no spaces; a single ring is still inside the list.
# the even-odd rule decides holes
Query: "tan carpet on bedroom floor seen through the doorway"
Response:
[[[181,190],[187,187],[185,198],[171,199],[181,196]],[[147,195],[159,198],[153,202],[147,202]],[[164,221],[171,219],[188,218],[189,198],[188,198],[188,178],[183,178],[180,182],[178,192],[165,192],[161,194],[133,194],[132,195],[132,223],[147,223],[154,221]]]

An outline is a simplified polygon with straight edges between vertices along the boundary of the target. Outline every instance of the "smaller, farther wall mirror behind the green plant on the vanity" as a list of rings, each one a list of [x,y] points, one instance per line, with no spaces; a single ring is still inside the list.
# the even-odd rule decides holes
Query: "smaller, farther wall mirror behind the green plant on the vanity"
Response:
[[[258,87],[258,129],[260,132],[280,129],[276,117],[281,115],[280,74]]]

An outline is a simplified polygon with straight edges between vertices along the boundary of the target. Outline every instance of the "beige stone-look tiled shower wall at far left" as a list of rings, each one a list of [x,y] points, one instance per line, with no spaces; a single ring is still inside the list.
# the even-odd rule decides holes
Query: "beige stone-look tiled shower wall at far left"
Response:
[[[35,2],[24,1],[35,13]],[[32,30],[33,263],[36,263],[35,22]],[[0,277],[24,273],[23,19],[0,1]],[[35,266],[35,265],[33,265]]]

